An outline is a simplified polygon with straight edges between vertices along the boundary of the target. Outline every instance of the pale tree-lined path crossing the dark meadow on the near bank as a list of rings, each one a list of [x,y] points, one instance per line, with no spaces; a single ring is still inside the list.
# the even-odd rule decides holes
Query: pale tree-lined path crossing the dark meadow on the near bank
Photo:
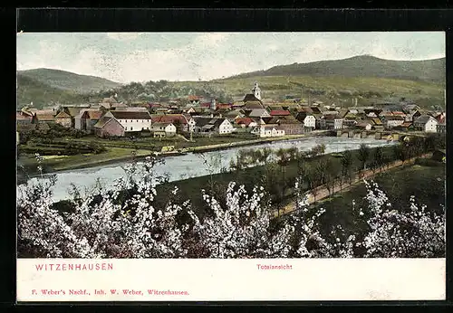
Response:
[[[328,197],[332,196],[333,194],[336,194],[336,193],[339,193],[339,192],[348,191],[349,189],[351,189],[351,187],[357,185],[357,183],[361,182],[363,179],[372,178],[374,175],[386,172],[386,171],[390,170],[391,168],[395,168],[395,167],[398,167],[398,166],[407,166],[407,165],[413,164],[413,163],[415,163],[415,160],[417,158],[419,158],[419,157],[429,158],[431,156],[432,156],[432,153],[427,153],[427,154],[422,155],[422,156],[412,157],[409,160],[404,161],[404,163],[402,161],[395,161],[393,163],[390,163],[389,166],[384,166],[384,167],[382,167],[381,170],[377,170],[374,173],[370,169],[369,170],[365,170],[365,171],[362,170],[362,171],[356,173],[356,175],[352,179],[352,183],[351,184],[343,183],[341,190],[340,190],[340,186],[335,184],[333,190],[331,190],[331,193],[329,193],[329,190],[325,187],[325,185],[321,185],[321,186],[315,188],[315,190],[316,190],[316,202],[318,202],[320,200],[323,200],[325,198],[328,198]],[[308,195],[308,204],[313,204],[313,202],[314,202],[313,192],[312,191],[307,191],[305,194]],[[294,212],[295,210],[296,210],[295,209],[295,203],[294,203],[294,201],[292,201],[290,204],[287,204],[286,206],[284,206],[283,209],[280,209],[280,212],[275,211],[275,217],[277,217],[279,215],[282,215],[282,214],[285,214],[285,213]]]

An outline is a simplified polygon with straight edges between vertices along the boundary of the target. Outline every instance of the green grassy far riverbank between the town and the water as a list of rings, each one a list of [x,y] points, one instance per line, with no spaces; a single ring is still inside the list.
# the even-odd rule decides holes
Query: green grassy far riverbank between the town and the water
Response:
[[[259,145],[269,142],[275,141],[283,141],[283,140],[296,140],[301,138],[310,138],[314,136],[325,136],[329,132],[327,131],[313,131],[312,133],[306,133],[302,135],[287,135],[284,137],[279,138],[259,138],[254,140],[244,140],[244,141],[237,141],[228,144],[217,144],[217,145],[207,145],[207,146],[200,146],[200,147],[188,147],[188,148],[180,148],[178,151],[169,151],[169,152],[159,152],[159,157],[168,157],[168,156],[178,156],[185,153],[203,153],[209,151],[217,151],[217,150],[224,150],[231,147],[246,147],[246,146],[253,146]],[[74,170],[74,169],[82,169],[82,168],[90,168],[96,166],[110,166],[115,164],[120,164],[125,161],[129,161],[132,159],[132,151],[134,149],[131,148],[123,148],[123,147],[109,147],[109,151],[105,153],[101,153],[99,155],[76,155],[76,156],[44,156],[43,159],[43,168],[45,174],[53,174],[57,172],[67,171],[67,170]],[[136,155],[135,158],[138,160],[143,160],[146,156],[154,155],[154,151],[139,149],[135,150]],[[34,167],[37,166],[37,163],[34,157],[30,157],[28,159],[23,159],[18,162],[20,166],[24,166],[25,170],[27,171],[28,178],[33,178],[40,175]],[[24,179],[22,179],[24,181]]]

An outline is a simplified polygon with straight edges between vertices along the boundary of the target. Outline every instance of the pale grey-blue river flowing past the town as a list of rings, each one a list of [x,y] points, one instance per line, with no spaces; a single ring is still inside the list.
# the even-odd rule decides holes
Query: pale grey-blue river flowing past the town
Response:
[[[342,152],[345,150],[358,149],[361,144],[366,144],[369,147],[382,147],[394,145],[397,142],[387,142],[386,140],[376,140],[374,138],[341,138],[341,137],[311,137],[300,138],[294,140],[275,141],[265,144],[258,144],[255,146],[247,147],[231,147],[226,150],[212,151],[204,153],[204,157],[210,159],[213,156],[219,156],[222,166],[229,167],[230,160],[236,156],[239,149],[253,149],[260,147],[270,147],[277,150],[281,147],[297,147],[301,150],[309,150],[312,147],[324,144],[326,149],[325,153]],[[68,190],[71,184],[79,187],[91,187],[99,181],[102,185],[111,186],[111,184],[118,178],[124,175],[124,166],[126,162],[95,166],[85,169],[74,169],[57,172],[54,175],[57,177],[56,184],[53,187],[53,200],[59,201],[70,198]],[[139,162],[140,164],[140,162]],[[168,174],[170,181],[186,179],[201,175],[208,175],[207,166],[204,165],[203,159],[199,154],[189,153],[182,156],[168,156],[165,158],[165,164],[156,167],[156,172],[159,175]],[[38,178],[30,179],[31,183],[36,182]],[[26,185],[18,185],[17,192],[20,196],[21,189]]]

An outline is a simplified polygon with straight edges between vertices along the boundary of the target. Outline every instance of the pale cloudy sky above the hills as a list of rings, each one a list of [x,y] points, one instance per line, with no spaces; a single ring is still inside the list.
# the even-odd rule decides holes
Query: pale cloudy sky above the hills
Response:
[[[16,50],[18,71],[49,68],[120,83],[208,81],[361,54],[442,58],[445,33],[17,33]]]

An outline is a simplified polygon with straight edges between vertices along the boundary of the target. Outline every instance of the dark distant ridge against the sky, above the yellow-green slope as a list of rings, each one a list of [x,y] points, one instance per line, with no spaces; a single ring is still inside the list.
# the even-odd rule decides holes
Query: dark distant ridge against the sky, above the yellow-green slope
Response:
[[[265,71],[246,72],[225,80],[255,76],[336,75],[445,82],[445,66],[445,58],[423,61],[395,61],[384,60],[371,55],[360,55],[342,60],[278,65]]]

